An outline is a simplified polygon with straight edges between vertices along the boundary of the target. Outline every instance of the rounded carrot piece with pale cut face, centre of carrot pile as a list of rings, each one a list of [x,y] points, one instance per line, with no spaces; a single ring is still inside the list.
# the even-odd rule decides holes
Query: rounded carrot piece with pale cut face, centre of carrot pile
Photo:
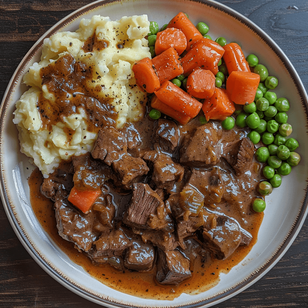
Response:
[[[209,70],[197,69],[188,76],[186,88],[194,97],[212,97],[215,91],[215,75]]]

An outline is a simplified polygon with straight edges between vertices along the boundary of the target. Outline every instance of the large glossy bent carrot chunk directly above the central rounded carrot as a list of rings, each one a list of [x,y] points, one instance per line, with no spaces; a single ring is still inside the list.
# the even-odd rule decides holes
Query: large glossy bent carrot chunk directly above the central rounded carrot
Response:
[[[195,67],[205,70],[215,68],[224,52],[225,50],[218,43],[206,38],[201,39],[181,59],[184,74]]]

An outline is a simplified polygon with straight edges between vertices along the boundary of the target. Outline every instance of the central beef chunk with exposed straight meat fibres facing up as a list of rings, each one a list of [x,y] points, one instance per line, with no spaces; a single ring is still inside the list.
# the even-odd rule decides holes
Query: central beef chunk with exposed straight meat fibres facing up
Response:
[[[123,222],[135,228],[163,229],[171,222],[164,202],[148,184],[134,184],[132,199]]]

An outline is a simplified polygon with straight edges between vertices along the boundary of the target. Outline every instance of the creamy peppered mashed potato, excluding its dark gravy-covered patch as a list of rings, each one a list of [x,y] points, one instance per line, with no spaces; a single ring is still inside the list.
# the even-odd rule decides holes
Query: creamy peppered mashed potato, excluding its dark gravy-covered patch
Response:
[[[148,32],[147,15],[123,17],[118,21],[95,15],[82,19],[76,32],[59,32],[44,40],[41,61],[34,63],[23,78],[30,89],[16,102],[13,120],[19,131],[21,152],[30,157],[44,176],[53,172],[62,159],[91,151],[97,132],[87,130],[87,114],[82,107],[60,117],[48,129],[43,127],[39,97],[50,106],[57,105],[57,98],[42,82],[41,69],[68,54],[76,63],[91,67],[87,93],[94,93],[100,102],[114,106],[118,113],[116,127],[120,128],[143,115],[146,95],[133,86],[136,81],[131,67],[135,61],[151,57],[144,38]],[[67,100],[71,98],[72,93],[67,93]],[[67,130],[71,132],[69,139]]]

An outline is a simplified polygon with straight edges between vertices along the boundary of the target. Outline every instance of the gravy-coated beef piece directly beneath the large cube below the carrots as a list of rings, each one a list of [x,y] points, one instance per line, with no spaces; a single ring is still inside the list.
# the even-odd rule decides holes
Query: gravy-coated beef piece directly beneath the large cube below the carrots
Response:
[[[204,203],[208,205],[220,202],[225,192],[221,170],[217,167],[211,170],[193,169],[186,187],[197,188],[204,195]]]

